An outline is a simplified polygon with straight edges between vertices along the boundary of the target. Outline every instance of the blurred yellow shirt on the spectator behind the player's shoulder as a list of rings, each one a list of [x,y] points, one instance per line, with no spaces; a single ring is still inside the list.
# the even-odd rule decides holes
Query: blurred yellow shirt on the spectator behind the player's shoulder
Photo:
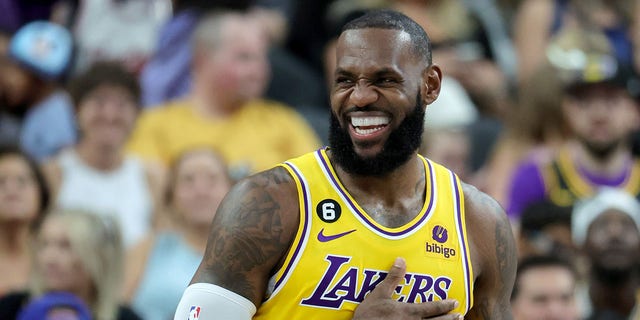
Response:
[[[145,111],[127,149],[167,165],[186,150],[208,146],[218,150],[237,175],[268,169],[320,146],[313,129],[293,109],[255,100],[228,118],[206,119],[189,100]]]

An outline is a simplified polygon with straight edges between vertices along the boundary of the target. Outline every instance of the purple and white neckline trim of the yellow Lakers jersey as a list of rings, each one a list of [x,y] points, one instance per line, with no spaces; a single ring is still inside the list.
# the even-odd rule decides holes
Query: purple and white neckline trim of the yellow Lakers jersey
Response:
[[[340,194],[343,196],[343,199],[347,202],[347,204],[349,204],[349,206],[351,207],[351,210],[353,210],[353,212],[355,212],[358,216],[360,216],[360,218],[363,221],[365,221],[365,223],[369,227],[373,228],[374,230],[376,230],[376,231],[378,231],[378,232],[380,232],[380,233],[382,233],[384,235],[391,236],[391,237],[401,236],[401,235],[410,233],[415,228],[420,226],[422,224],[422,222],[429,215],[429,214],[423,214],[422,217],[420,218],[420,220],[418,220],[416,223],[414,223],[412,226],[410,226],[406,230],[402,230],[402,231],[399,231],[399,232],[389,232],[389,231],[386,231],[384,229],[381,229],[380,227],[378,227],[375,224],[371,223],[371,221],[369,221],[369,219],[367,219],[367,214],[358,209],[358,207],[355,205],[355,203],[351,200],[351,197],[349,197],[349,193],[342,188],[340,183],[338,183],[337,177],[335,177],[335,175],[332,174],[331,168],[329,166],[329,163],[327,163],[327,159],[325,159],[325,157],[322,156],[321,150],[318,150],[316,152],[318,154],[318,158],[320,158],[320,161],[322,162],[322,166],[325,168],[325,171],[328,173],[328,176],[331,179],[331,182],[336,187],[338,192],[340,192]],[[431,166],[431,162],[429,162],[428,160],[425,160],[425,161],[427,162],[427,165],[429,166],[429,183],[431,183],[431,192],[429,194],[429,205],[427,206],[427,210],[426,210],[426,212],[429,213],[429,212],[431,212],[431,207],[433,206],[433,198],[434,198],[434,190],[435,190],[435,182],[434,182],[434,177],[433,176],[434,176],[435,172],[433,170],[433,167]]]

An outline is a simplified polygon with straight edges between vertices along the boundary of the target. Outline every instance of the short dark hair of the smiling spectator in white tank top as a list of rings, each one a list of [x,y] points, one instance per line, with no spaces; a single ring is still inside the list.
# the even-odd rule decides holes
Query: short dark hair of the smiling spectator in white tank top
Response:
[[[137,108],[140,105],[140,83],[133,72],[115,61],[98,61],[89,69],[75,77],[69,83],[68,91],[78,111],[82,100],[102,85],[112,85],[125,89],[134,99]]]

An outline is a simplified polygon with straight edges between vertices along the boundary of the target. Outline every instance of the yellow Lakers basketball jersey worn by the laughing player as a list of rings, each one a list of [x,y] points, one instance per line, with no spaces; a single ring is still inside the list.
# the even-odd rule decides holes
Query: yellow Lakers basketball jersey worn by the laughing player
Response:
[[[347,192],[324,149],[284,163],[296,181],[300,226],[283,267],[272,277],[254,319],[351,319],[396,257],[407,262],[394,299],[453,298],[455,312],[473,305],[473,271],[464,196],[450,170],[420,157],[425,203],[404,226],[374,221]]]

